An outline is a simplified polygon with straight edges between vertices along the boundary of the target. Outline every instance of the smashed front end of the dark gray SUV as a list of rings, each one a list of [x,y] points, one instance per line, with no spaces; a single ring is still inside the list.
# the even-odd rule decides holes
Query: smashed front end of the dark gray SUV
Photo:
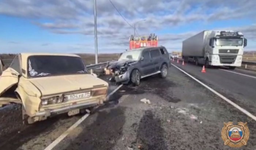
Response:
[[[132,62],[114,62],[109,64],[108,69],[112,70],[112,79],[111,81],[128,83],[130,80],[130,70],[129,66]]]

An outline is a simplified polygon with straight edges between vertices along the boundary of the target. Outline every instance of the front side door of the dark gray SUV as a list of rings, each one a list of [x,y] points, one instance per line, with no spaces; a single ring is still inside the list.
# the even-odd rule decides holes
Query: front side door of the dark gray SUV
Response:
[[[152,67],[152,66],[154,66],[154,64],[150,57],[149,50],[144,50],[142,52],[141,58],[143,58],[140,60],[140,64],[141,64],[140,70],[142,72],[142,75],[147,75],[147,74],[153,73],[155,71],[154,67]]]

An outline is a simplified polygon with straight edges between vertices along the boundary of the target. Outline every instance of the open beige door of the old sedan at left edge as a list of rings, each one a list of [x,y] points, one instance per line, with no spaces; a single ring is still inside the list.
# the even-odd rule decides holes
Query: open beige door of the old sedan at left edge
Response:
[[[9,68],[2,72],[0,76],[0,105],[6,104],[6,99],[2,98],[4,92],[19,82],[20,61],[17,55]],[[10,99],[11,100],[11,99]]]

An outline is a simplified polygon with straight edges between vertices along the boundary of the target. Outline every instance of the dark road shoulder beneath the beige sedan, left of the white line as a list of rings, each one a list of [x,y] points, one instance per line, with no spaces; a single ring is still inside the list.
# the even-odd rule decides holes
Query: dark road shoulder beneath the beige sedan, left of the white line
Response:
[[[109,76],[99,78],[109,80]],[[108,94],[117,86],[110,84]],[[22,124],[20,104],[2,107],[0,108],[0,150],[40,150],[53,142],[82,116],[83,114],[68,117],[67,114],[62,114],[26,126]]]

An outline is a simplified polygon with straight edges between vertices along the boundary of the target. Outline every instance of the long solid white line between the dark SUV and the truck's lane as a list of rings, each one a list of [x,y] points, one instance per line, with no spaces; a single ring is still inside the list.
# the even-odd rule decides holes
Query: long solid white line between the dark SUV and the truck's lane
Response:
[[[184,70],[180,69],[179,67],[175,66],[174,64],[172,64],[174,67],[176,67],[178,70],[182,71],[184,74],[188,75],[190,78],[194,79],[196,82],[202,84],[204,87],[206,87],[208,90],[212,91],[214,94],[218,95],[219,97],[221,97],[222,99],[224,99],[226,102],[230,103],[231,105],[233,105],[234,107],[236,107],[238,110],[242,111],[244,114],[248,115],[249,117],[251,117],[253,120],[256,121],[256,116],[254,116],[253,114],[251,114],[250,112],[248,112],[247,110],[245,110],[244,108],[238,106],[236,103],[232,102],[231,100],[229,100],[228,98],[226,98],[225,96],[219,94],[217,91],[215,91],[214,89],[212,89],[211,87],[207,86],[206,84],[204,84],[203,82],[197,80],[195,77],[193,77],[192,75],[188,74],[187,72],[185,72]]]

